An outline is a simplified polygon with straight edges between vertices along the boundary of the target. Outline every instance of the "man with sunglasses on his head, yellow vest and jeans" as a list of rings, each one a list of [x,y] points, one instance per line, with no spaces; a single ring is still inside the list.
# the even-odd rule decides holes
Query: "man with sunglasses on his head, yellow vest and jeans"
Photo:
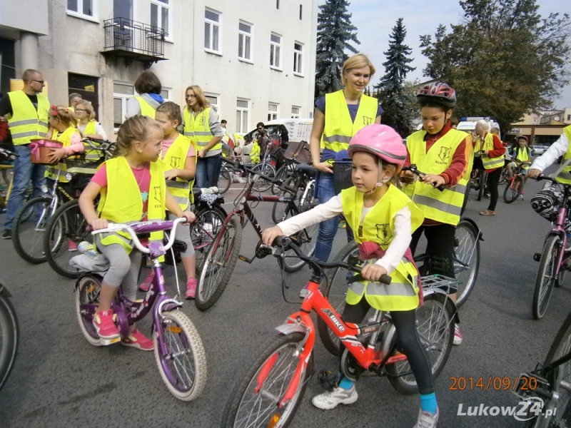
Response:
[[[12,221],[24,203],[24,192],[30,183],[34,187],[33,197],[41,195],[46,183],[46,167],[30,161],[29,143],[33,138],[44,138],[48,132],[48,98],[41,95],[44,90],[44,77],[37,70],[29,68],[22,74],[24,88],[12,91],[0,100],[0,116],[8,117],[8,126],[14,143],[14,151],[19,155],[14,161],[12,192],[6,207],[6,220],[2,239],[12,238]]]

